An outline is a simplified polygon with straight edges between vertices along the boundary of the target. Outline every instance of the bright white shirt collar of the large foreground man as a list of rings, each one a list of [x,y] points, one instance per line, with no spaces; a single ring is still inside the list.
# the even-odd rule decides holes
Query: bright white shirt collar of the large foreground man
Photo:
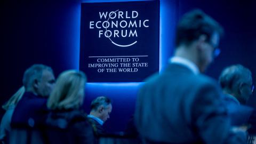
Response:
[[[179,65],[183,65],[189,68],[191,71],[193,71],[194,74],[199,74],[199,69],[196,66],[196,64],[188,59],[175,56],[175,57],[172,57],[169,61],[170,63],[177,63]]]

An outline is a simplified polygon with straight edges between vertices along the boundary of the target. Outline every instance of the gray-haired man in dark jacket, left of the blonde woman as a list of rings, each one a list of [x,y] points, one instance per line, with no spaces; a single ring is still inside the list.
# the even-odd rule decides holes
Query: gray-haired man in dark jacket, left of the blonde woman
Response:
[[[53,70],[49,66],[35,64],[23,75],[26,92],[14,109],[12,127],[34,127],[44,125],[49,110],[46,107],[55,85]]]

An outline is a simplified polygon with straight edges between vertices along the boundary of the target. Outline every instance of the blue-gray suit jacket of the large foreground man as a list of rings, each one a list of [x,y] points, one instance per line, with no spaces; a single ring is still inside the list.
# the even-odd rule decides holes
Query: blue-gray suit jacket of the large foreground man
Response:
[[[246,142],[230,130],[217,82],[175,63],[146,80],[134,117],[142,138],[153,143]]]

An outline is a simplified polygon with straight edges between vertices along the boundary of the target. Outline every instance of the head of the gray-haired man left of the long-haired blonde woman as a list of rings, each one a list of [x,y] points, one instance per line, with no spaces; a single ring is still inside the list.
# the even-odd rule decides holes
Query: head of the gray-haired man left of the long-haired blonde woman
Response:
[[[22,82],[26,92],[49,97],[55,85],[55,77],[51,67],[35,64],[25,71]]]

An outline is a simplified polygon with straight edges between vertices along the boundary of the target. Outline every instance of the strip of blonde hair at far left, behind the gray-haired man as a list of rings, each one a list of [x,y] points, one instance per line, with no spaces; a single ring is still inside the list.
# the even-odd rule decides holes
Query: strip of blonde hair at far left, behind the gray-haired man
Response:
[[[21,86],[20,89],[15,92],[12,97],[2,106],[2,108],[7,110],[10,106],[16,106],[24,93],[25,87]]]

